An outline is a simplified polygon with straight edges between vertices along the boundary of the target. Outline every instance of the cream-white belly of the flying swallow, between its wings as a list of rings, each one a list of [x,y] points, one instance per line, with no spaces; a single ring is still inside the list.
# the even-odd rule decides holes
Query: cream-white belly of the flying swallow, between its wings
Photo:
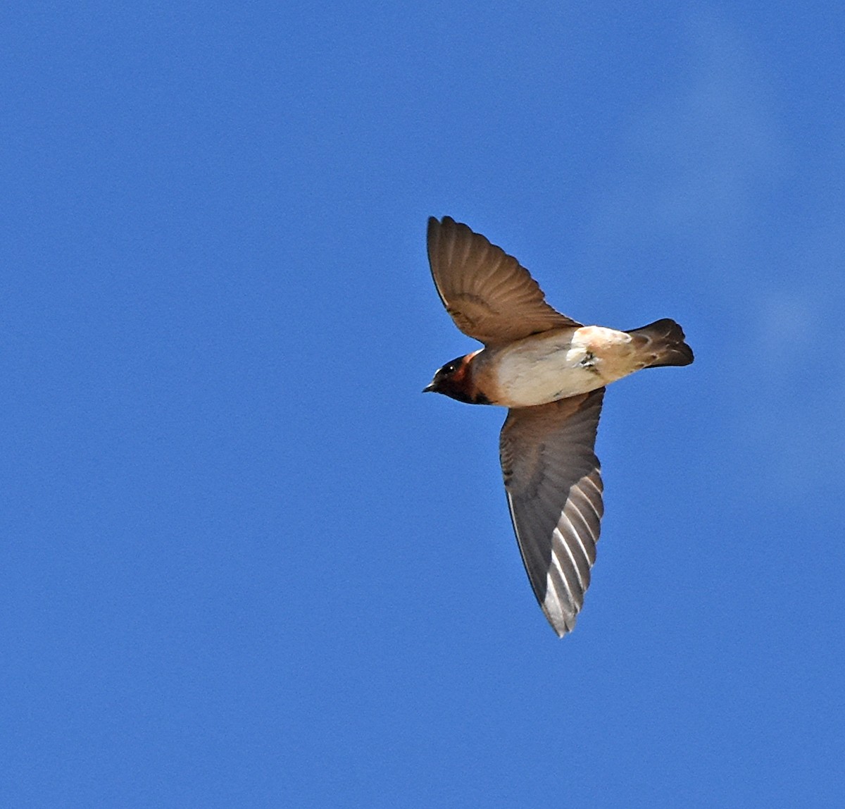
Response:
[[[495,360],[495,403],[532,407],[595,391],[633,370],[613,361],[619,351],[626,353],[628,342],[624,332],[597,326],[515,342]]]

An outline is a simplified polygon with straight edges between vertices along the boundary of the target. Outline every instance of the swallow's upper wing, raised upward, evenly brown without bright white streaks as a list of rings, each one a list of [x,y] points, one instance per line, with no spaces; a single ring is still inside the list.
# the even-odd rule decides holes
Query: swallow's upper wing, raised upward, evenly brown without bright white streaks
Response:
[[[546,303],[513,256],[450,216],[428,220],[428,261],[455,325],[485,345],[581,325]]]

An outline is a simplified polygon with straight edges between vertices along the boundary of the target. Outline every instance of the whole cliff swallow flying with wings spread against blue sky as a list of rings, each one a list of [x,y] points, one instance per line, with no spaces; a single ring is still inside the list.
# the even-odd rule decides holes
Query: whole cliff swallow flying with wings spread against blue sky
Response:
[[[445,364],[424,390],[509,408],[499,458],[510,518],[537,601],[563,637],[596,560],[603,505],[593,447],[605,385],[689,365],[692,350],[674,320],[616,331],[560,314],[515,258],[449,216],[428,220],[428,261],[455,325],[484,347]]]

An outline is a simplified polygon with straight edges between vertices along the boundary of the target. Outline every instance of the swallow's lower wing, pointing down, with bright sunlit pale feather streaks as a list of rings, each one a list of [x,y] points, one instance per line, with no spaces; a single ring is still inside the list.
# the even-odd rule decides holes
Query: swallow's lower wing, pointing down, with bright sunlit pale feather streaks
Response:
[[[504,488],[522,561],[560,637],[575,626],[601,527],[596,444],[604,388],[511,409],[499,444]]]

